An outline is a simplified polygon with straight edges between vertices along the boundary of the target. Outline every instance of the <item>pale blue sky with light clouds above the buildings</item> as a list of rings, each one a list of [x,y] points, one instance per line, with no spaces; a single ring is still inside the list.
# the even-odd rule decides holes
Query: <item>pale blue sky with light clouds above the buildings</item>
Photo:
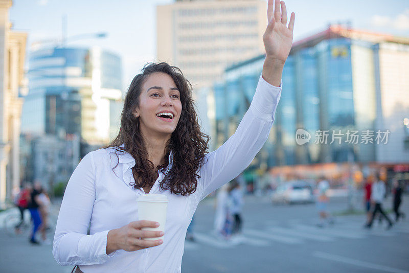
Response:
[[[57,42],[61,39],[62,22],[65,17],[66,45],[99,46],[119,54],[124,69],[123,88],[127,88],[144,63],[155,61],[156,6],[173,2],[173,0],[13,0],[9,20],[13,24],[13,30],[28,33],[29,54],[33,42],[48,40],[49,43],[46,44],[53,44],[50,41]],[[267,1],[265,2],[267,5]],[[351,22],[353,29],[409,37],[407,0],[288,0],[285,3],[288,14],[296,13],[294,42],[325,30],[329,24],[346,21]],[[70,41],[70,37],[75,35],[100,32],[107,33],[107,37]]]

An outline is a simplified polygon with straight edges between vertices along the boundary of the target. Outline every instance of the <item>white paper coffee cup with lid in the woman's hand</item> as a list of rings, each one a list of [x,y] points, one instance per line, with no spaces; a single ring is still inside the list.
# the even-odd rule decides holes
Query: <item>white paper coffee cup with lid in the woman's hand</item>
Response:
[[[138,199],[139,220],[155,221],[158,227],[143,227],[143,231],[163,231],[165,232],[166,211],[168,208],[168,197],[163,194],[141,194]],[[159,240],[161,237],[143,238],[144,240]]]

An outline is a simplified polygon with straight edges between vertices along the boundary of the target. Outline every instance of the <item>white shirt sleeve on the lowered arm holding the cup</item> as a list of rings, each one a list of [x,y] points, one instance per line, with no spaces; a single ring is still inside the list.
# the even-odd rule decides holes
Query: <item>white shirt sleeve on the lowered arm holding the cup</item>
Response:
[[[108,231],[87,235],[95,198],[91,152],[71,175],[62,199],[53,243],[53,255],[60,265],[102,264],[115,254],[106,255]]]

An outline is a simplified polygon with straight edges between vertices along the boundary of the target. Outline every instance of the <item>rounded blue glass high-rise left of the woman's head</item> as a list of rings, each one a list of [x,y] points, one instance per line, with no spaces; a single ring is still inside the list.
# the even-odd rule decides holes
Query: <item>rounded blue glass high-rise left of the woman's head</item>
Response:
[[[122,109],[119,56],[98,48],[46,48],[30,54],[29,67],[22,133],[109,142]]]

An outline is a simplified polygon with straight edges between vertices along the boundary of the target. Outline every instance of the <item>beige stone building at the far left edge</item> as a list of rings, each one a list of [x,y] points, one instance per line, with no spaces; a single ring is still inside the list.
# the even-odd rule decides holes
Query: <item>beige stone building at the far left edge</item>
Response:
[[[11,0],[0,0],[0,208],[12,189],[20,186],[19,135],[25,86],[27,33],[11,31]]]

